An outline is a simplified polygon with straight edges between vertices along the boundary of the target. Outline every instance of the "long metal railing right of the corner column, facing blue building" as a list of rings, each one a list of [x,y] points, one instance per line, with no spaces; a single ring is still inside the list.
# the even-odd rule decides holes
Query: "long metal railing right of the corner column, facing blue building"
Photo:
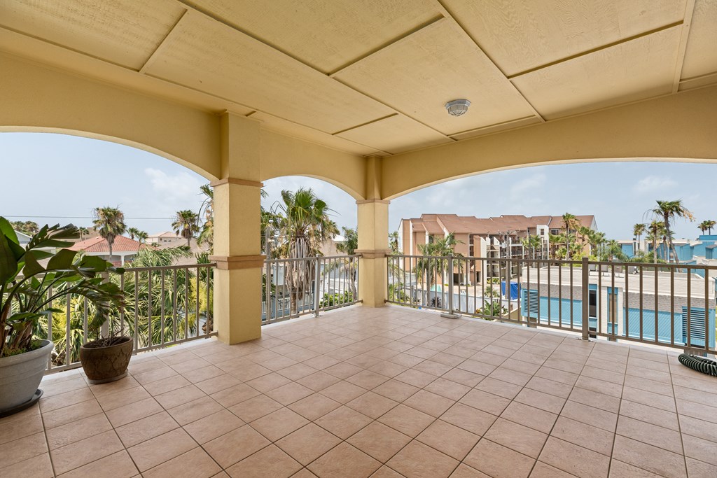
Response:
[[[386,273],[398,305],[716,352],[717,266],[392,255]]]

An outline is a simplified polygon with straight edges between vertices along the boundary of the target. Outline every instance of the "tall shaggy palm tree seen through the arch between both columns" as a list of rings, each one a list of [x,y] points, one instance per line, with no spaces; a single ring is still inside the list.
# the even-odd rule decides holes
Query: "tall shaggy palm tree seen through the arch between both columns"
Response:
[[[310,188],[298,191],[281,191],[282,202],[277,204],[281,214],[275,214],[280,231],[279,252],[288,259],[306,259],[321,254],[321,243],[338,233],[336,224],[328,217],[331,209]],[[297,313],[297,302],[303,300],[308,287],[315,279],[314,267],[308,261],[289,261],[285,281],[290,290],[291,315]]]

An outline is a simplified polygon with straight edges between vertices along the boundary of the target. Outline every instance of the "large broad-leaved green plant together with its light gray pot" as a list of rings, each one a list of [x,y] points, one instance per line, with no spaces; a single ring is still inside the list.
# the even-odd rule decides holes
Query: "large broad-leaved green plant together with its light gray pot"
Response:
[[[42,318],[52,320],[57,312],[53,302],[80,295],[105,316],[123,304],[122,290],[100,275],[114,270],[112,264],[63,249],[79,237],[71,224],[43,226],[22,247],[9,221],[0,216],[0,416],[23,410],[42,396],[37,387],[54,345],[36,334]],[[44,259],[49,259],[46,265],[41,264]]]

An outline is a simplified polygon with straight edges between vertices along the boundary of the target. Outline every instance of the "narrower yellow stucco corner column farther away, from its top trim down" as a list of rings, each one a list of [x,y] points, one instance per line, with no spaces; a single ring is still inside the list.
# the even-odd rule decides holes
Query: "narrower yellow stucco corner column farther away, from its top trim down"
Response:
[[[359,299],[364,307],[386,303],[386,254],[389,254],[389,201],[356,201],[359,215]]]

